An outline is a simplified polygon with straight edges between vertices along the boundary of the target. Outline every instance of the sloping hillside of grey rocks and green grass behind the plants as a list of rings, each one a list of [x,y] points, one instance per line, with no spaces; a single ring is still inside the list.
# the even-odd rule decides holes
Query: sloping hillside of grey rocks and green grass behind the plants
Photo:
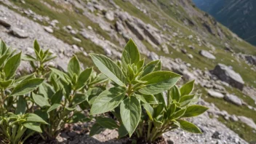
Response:
[[[192,0],[0,0],[0,38],[23,53],[33,40],[59,58],[49,65],[65,71],[78,55],[91,66],[90,52],[119,60],[132,38],[145,60],[162,60],[163,68],[196,79],[200,104],[210,109],[191,119],[204,132],[167,132],[172,143],[251,143],[256,140],[256,48],[201,12]],[[23,70],[30,68],[23,63]],[[83,125],[83,124],[82,124]],[[89,138],[76,125],[63,132],[63,143],[120,143],[115,131]],[[100,142],[99,142],[100,141]]]

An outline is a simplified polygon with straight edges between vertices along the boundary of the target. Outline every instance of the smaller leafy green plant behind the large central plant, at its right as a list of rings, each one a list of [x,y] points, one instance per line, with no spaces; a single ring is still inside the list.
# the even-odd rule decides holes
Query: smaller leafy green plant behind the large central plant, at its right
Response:
[[[151,143],[164,132],[178,127],[188,132],[201,133],[196,125],[185,121],[185,118],[199,116],[208,109],[195,105],[200,95],[191,94],[193,82],[189,81],[180,89],[176,85],[169,89],[167,100],[164,99],[164,93],[155,95],[158,104],[143,103],[145,113],[136,130],[137,137],[143,137],[145,142]]]

